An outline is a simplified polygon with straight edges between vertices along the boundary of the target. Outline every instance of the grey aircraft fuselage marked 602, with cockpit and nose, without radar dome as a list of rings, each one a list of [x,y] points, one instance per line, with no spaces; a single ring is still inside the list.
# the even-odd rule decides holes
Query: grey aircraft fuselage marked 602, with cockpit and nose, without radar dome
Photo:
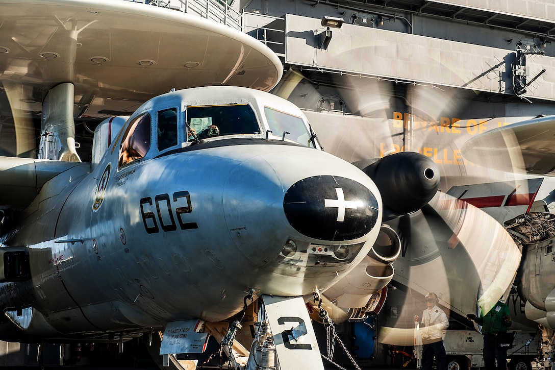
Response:
[[[283,368],[288,351],[317,349],[305,301],[370,253],[381,198],[320,150],[298,108],[248,88],[191,88],[108,119],[94,143],[92,163],[0,160],[3,340],[166,328],[180,353],[206,334],[172,333],[199,319],[210,330],[263,297]],[[321,366],[318,351],[306,358]]]

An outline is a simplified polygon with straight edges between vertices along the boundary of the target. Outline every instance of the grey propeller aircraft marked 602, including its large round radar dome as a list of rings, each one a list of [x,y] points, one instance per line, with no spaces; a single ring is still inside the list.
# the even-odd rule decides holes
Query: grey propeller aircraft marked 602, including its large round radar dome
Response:
[[[0,157],[0,339],[121,349],[163,332],[169,361],[211,334],[236,368],[322,369],[309,312],[379,309],[400,253],[382,199],[422,207],[433,163],[398,153],[365,173],[322,151],[300,109],[266,92],[279,58],[228,26],[124,1],[0,4],[21,155]],[[107,111],[129,114],[100,123],[81,162],[75,119]],[[38,159],[23,158],[31,116]]]

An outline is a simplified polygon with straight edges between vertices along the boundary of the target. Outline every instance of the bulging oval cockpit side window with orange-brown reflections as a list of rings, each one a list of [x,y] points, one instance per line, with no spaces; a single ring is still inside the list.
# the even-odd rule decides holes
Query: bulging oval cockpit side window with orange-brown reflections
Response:
[[[141,159],[150,148],[150,116],[144,113],[135,117],[123,134],[118,167]]]

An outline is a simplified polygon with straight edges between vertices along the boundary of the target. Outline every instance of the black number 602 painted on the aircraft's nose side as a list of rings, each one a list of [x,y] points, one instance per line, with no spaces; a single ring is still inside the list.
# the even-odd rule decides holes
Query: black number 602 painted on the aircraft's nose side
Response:
[[[181,198],[184,198],[185,206],[176,207],[174,217],[172,203],[176,203],[178,201],[182,203],[183,200],[180,200]],[[165,232],[175,231],[177,229],[177,224],[179,224],[181,230],[199,228],[196,222],[183,222],[183,214],[193,212],[191,196],[188,191],[173,193],[173,202],[171,202],[169,194],[158,194],[157,196],[155,196],[154,205],[156,207],[156,214],[154,213],[154,210],[152,208],[149,208],[147,205],[153,206],[151,197],[145,197],[140,200],[140,212],[143,217],[144,229],[149,234],[154,234],[160,231],[158,223],[160,223],[160,227]],[[145,208],[150,210],[147,210]],[[177,219],[177,223],[175,222],[175,219]],[[148,222],[149,220],[150,222]]]

